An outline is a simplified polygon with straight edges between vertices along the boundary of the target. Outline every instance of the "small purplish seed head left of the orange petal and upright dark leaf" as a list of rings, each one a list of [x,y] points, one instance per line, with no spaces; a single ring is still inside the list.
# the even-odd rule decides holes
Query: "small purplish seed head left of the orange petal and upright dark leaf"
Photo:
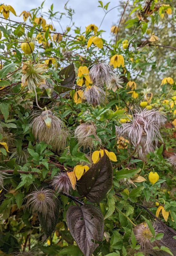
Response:
[[[68,194],[71,188],[71,182],[67,172],[60,172],[57,174],[57,176],[54,176],[51,181],[51,186],[58,192],[62,191]]]

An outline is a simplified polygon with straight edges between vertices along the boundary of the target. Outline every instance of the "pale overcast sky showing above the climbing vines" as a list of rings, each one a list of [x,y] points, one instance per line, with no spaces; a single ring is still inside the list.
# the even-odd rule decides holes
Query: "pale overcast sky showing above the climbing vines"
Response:
[[[64,12],[64,4],[67,0],[45,0],[44,3],[44,12],[48,11],[48,8],[51,6],[51,4],[54,4],[53,12]],[[108,10],[119,5],[120,0],[109,0],[111,1],[108,7]],[[5,4],[10,4],[15,9],[17,15],[20,15],[22,11],[29,11],[33,8],[36,8],[37,6],[40,6],[43,1],[41,0],[6,0],[4,1]],[[103,4],[106,4],[108,0],[103,0]],[[104,16],[104,11],[102,8],[98,7],[99,3],[98,0],[69,0],[68,7],[71,7],[75,10],[75,14],[73,17],[73,20],[75,22],[76,27],[81,27],[82,31],[85,31],[85,26],[89,25],[90,23],[94,23],[96,26],[100,26],[101,20]],[[105,33],[103,33],[104,39],[109,39],[111,37],[110,35],[110,28],[112,25],[117,24],[117,21],[120,19],[120,12],[122,7],[117,7],[110,11],[102,25],[101,29],[106,30]],[[13,14],[10,14],[10,18],[12,20],[23,20],[22,16],[15,17]],[[48,22],[49,23],[49,22]],[[59,25],[54,24],[57,28],[57,32],[61,33],[61,30],[59,28]],[[69,25],[69,20],[64,18],[61,21],[61,25],[63,29],[65,29]],[[60,30],[60,31],[58,31]]]

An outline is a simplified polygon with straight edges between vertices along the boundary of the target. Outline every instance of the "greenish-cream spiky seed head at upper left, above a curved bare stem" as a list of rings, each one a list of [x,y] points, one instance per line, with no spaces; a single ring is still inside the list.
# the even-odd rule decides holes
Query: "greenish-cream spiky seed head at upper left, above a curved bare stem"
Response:
[[[44,80],[48,77],[44,75],[46,69],[45,64],[33,64],[29,62],[23,62],[21,82],[24,86],[28,85],[29,90],[35,90],[36,86],[44,83]]]

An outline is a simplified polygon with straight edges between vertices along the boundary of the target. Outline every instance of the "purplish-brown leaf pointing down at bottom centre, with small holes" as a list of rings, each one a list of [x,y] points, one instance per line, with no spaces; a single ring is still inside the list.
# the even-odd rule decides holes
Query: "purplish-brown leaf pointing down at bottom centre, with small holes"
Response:
[[[100,210],[92,204],[70,206],[67,224],[71,235],[85,256],[91,256],[98,246],[93,241],[102,241],[104,220]]]

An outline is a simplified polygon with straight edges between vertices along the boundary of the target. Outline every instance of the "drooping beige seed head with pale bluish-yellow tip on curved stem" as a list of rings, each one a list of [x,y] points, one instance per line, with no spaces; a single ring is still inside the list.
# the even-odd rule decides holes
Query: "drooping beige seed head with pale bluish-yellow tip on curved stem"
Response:
[[[32,125],[35,138],[52,145],[55,138],[61,134],[63,122],[59,117],[54,116],[50,110],[46,110],[34,118]]]

